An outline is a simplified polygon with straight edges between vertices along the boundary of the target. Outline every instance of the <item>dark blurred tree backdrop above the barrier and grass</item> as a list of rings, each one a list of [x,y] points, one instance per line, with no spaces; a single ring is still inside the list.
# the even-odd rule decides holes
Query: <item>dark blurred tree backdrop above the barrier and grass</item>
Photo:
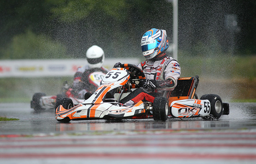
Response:
[[[179,50],[256,54],[255,8],[255,0],[179,0]],[[234,33],[227,14],[237,16]],[[93,44],[107,57],[141,57],[141,36],[151,28],[172,41],[167,0],[2,0],[0,16],[0,59],[80,58]]]

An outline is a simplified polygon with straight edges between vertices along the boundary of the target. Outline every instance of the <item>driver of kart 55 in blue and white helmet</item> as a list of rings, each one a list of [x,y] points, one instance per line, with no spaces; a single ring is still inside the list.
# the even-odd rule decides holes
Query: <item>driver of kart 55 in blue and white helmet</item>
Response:
[[[139,86],[131,94],[120,100],[120,103],[130,106],[140,100],[154,102],[156,96],[161,95],[161,90],[174,90],[181,74],[177,60],[167,56],[165,51],[169,47],[165,30],[152,28],[141,39],[142,54],[146,61],[138,64],[143,70],[146,79],[140,79]],[[114,67],[120,67],[118,62]]]

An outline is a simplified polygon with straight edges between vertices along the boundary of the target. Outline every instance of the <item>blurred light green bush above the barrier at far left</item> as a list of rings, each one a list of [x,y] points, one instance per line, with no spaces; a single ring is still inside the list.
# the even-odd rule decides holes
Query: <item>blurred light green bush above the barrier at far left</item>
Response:
[[[43,34],[37,36],[28,30],[14,36],[3,54],[7,59],[65,58],[66,49],[60,42]]]

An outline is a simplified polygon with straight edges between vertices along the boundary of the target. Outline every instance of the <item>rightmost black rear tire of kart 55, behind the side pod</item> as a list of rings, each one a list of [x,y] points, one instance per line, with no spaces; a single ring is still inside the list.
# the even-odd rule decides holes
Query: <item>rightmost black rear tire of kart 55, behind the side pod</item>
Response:
[[[222,100],[217,94],[205,94],[201,96],[200,100],[209,100],[211,104],[210,114],[214,118],[219,119],[223,112]]]

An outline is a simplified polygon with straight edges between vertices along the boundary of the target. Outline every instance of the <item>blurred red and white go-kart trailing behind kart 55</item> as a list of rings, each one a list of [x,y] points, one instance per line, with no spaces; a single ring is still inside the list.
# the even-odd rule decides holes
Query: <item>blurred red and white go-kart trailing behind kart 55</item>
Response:
[[[89,74],[88,80],[93,86],[100,86],[100,81],[105,76],[105,74],[99,70],[92,69],[93,71]],[[45,93],[38,92],[35,93],[30,101],[30,108],[35,111],[45,110],[45,109],[55,109],[56,101],[62,97],[68,97],[72,100],[74,104],[78,104],[84,101],[84,99],[77,98],[71,94],[72,88],[65,81],[63,87],[61,88],[60,94],[56,96],[47,96]]]

